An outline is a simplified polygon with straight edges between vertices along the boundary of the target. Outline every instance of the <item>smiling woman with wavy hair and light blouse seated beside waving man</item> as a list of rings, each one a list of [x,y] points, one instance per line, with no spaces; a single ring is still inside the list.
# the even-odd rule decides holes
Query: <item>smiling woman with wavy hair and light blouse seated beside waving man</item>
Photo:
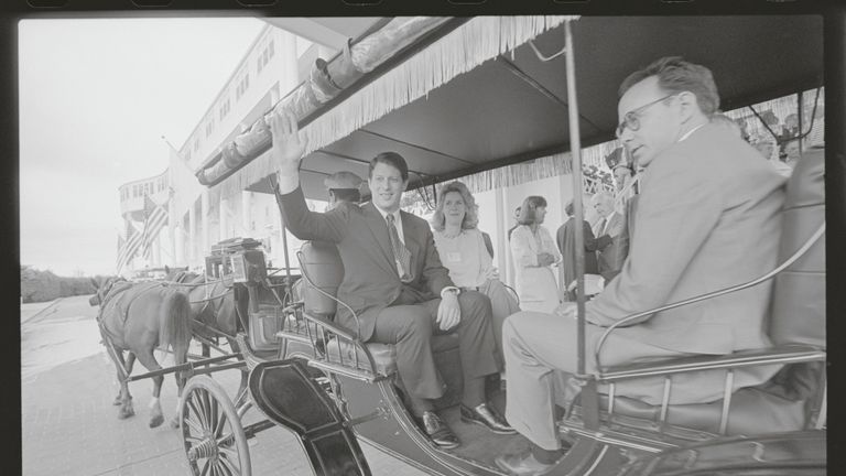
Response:
[[[444,185],[431,220],[437,253],[457,286],[479,291],[490,299],[494,339],[499,348],[502,323],[520,307],[512,291],[499,281],[478,223],[478,206],[467,186],[462,182]]]

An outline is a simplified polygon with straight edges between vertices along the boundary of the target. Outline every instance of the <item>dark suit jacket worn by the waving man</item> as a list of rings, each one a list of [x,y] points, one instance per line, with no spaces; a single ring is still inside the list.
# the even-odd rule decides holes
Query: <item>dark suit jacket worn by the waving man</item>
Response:
[[[397,272],[388,225],[373,204],[345,203],[326,213],[311,212],[300,187],[280,195],[279,204],[285,226],[295,237],[337,245],[345,270],[338,299],[358,315],[362,340],[371,337],[376,317],[384,307],[436,299],[441,290],[454,285],[441,264],[432,230],[422,218],[400,212],[413,272],[412,282],[403,284]],[[336,321],[356,329],[355,318],[344,306],[338,306]]]

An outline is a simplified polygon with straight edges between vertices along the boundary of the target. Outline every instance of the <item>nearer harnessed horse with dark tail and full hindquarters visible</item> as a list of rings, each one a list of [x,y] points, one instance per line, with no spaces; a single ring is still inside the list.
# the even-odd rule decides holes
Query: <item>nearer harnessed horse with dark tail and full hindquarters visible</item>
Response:
[[[91,279],[97,293],[89,300],[91,305],[100,305],[97,317],[104,345],[109,350],[118,370],[120,393],[116,401],[120,404],[119,419],[134,414],[132,396],[127,378],[132,371],[137,358],[149,370],[161,370],[155,359],[156,348],[173,349],[176,365],[184,364],[191,342],[191,304],[186,293],[156,282],[133,283],[120,278],[108,278],[102,282]],[[123,360],[123,350],[129,358]],[[176,372],[178,394],[185,379]],[[153,379],[153,399],[150,402],[150,428],[164,422],[159,396],[163,376]],[[174,415],[171,426],[178,426],[178,415]]]

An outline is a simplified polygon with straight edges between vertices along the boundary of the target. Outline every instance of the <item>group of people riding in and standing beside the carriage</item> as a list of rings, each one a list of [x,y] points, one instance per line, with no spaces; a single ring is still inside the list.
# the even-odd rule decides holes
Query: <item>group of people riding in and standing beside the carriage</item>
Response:
[[[530,452],[501,455],[497,464],[509,474],[544,474],[566,452],[555,431],[554,381],[556,374],[576,372],[572,284],[577,253],[584,256],[585,272],[604,282],[585,304],[587,356],[594,355],[597,336],[627,315],[748,281],[776,264],[785,177],[744,140],[739,125],[720,123],[718,107],[711,72],[679,57],[661,58],[627,77],[619,90],[617,136],[632,163],[620,160],[620,151],[612,171],[623,194],[631,192],[637,170],[638,194],[590,197],[599,219],[593,227],[582,223],[582,250],[576,249],[572,202],[565,206],[571,218],[553,237],[543,225],[545,198],[525,197],[508,232],[517,295],[499,280],[490,240],[478,228],[475,199],[463,183],[441,188],[431,224],[400,210],[409,177],[395,152],[370,162],[370,202],[310,212],[297,172],[305,145],[286,111],[274,113],[271,122],[280,209],[297,238],[337,246],[345,268],[338,299],[349,310],[339,309],[335,318],[352,328],[355,311],[362,342],[395,346],[399,378],[421,431],[437,446],[460,444],[433,407],[445,389],[430,348],[434,334],[455,332],[464,372],[462,421],[524,435]],[[801,160],[792,143],[799,145],[784,143],[788,167]],[[615,334],[604,363],[766,347],[770,289],[764,283],[644,317]],[[587,371],[596,370],[587,360]],[[489,402],[485,386],[487,376],[503,370],[505,415]],[[769,377],[738,369],[734,385]],[[672,403],[722,397],[720,383],[691,383],[695,387],[682,382],[673,391]],[[661,401],[660,385],[619,391],[647,403]]]

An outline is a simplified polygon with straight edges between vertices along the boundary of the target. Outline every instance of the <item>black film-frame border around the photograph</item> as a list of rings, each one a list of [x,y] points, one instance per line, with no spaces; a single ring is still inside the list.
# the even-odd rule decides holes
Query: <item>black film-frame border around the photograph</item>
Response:
[[[376,4],[356,4],[356,2]],[[460,4],[465,2],[465,4]],[[481,2],[481,3],[478,3]],[[259,6],[245,6],[260,3]],[[59,6],[59,7],[55,7]],[[162,7],[163,6],[163,7]],[[7,390],[0,402],[3,429],[3,474],[21,474],[21,380],[20,380],[20,208],[19,208],[19,107],[18,21],[34,18],[164,18],[164,17],[391,17],[391,15],[481,15],[481,14],[585,14],[585,15],[693,15],[693,14],[799,14],[824,15],[826,86],[826,266],[827,335],[844,333],[846,318],[846,2],[842,0],[3,0],[0,4],[0,269],[3,309],[3,359]],[[61,158],[57,158],[61,160]],[[73,191],[44,191],[45,196]],[[56,232],[62,232],[56,224]],[[843,452],[843,378],[835,375],[844,349],[828,349],[829,401],[828,468],[839,474],[846,467]],[[17,365],[17,367],[15,367]],[[17,382],[14,386],[11,383]],[[106,411],[104,409],[104,411]],[[51,457],[44,454],[42,457]]]

